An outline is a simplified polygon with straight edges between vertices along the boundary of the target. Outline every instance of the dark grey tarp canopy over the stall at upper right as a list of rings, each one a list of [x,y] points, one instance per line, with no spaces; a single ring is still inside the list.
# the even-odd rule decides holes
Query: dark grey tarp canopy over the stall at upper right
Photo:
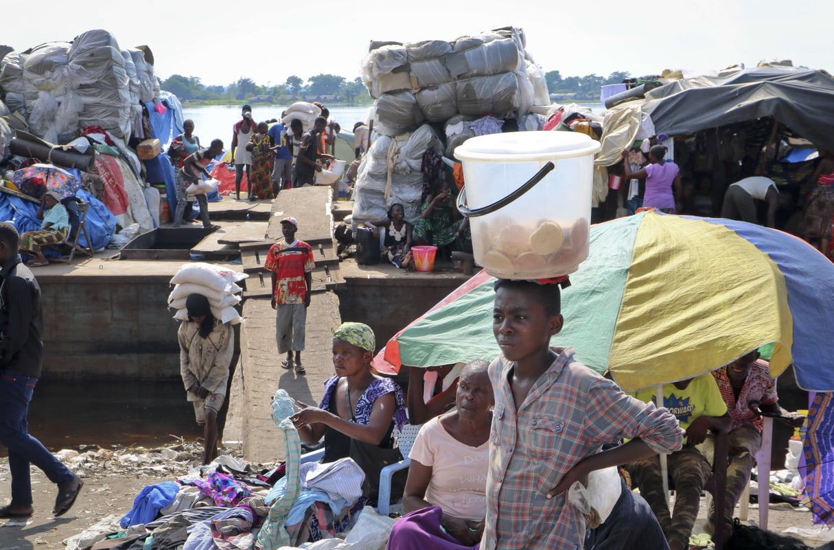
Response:
[[[646,93],[656,133],[676,135],[773,117],[817,148],[834,150],[834,79],[795,67],[756,67],[693,77]]]

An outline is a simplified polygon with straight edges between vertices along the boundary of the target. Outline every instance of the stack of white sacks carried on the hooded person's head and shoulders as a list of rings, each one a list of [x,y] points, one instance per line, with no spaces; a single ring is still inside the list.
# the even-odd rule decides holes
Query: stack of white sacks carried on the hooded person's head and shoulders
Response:
[[[174,287],[168,295],[168,308],[177,310],[173,318],[188,321],[188,309],[185,308],[188,296],[202,294],[208,299],[214,318],[236,325],[243,320],[234,308],[240,303],[237,294],[243,290],[237,283],[248,277],[246,273],[211,263],[186,263],[171,278]]]

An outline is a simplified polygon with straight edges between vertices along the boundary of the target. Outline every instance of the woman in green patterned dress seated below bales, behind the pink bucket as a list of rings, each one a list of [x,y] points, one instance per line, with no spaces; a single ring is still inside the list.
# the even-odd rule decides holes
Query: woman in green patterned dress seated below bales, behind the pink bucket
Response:
[[[463,217],[445,178],[435,180],[420,210],[420,219],[414,223],[414,244],[433,245],[438,248],[438,258],[449,260]]]

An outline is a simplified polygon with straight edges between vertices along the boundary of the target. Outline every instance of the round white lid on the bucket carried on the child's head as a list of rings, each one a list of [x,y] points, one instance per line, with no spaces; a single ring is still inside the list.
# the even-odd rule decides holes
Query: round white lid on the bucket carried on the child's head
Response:
[[[467,139],[455,148],[461,161],[510,161],[525,163],[593,155],[600,143],[584,133],[511,132]]]

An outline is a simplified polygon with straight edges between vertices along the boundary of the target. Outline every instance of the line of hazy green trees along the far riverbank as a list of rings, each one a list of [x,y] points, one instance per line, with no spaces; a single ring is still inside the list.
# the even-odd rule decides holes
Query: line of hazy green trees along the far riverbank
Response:
[[[628,72],[612,72],[608,77],[600,77],[594,73],[584,77],[562,77],[559,71],[545,72],[550,93],[575,93],[576,99],[597,99],[600,97],[600,87],[605,84],[616,84],[631,77]],[[374,100],[370,97],[362,79],[355,77],[348,80],[335,74],[317,74],[309,77],[307,82],[292,75],[284,83],[265,86],[256,84],[251,78],[240,78],[227,86],[206,85],[198,77],[184,77],[175,74],[162,82],[162,87],[175,94],[184,102],[240,102],[259,101],[282,103],[288,101],[315,101],[322,98],[329,102],[343,102],[350,105],[366,105]]]

